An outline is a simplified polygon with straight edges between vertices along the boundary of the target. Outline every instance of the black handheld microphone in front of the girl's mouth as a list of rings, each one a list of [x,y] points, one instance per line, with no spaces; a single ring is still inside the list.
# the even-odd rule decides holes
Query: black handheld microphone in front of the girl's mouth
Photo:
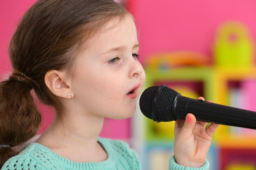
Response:
[[[165,85],[147,88],[139,99],[141,112],[156,122],[185,119],[256,129],[256,112],[184,97]]]

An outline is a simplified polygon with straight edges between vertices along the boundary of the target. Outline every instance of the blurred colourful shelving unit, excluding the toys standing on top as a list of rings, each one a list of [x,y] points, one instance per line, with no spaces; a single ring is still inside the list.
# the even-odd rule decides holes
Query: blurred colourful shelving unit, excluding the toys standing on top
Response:
[[[223,105],[234,105],[229,98],[246,96],[244,109],[255,108],[256,68],[217,68],[217,67],[182,67],[170,69],[145,68],[147,79],[144,88],[166,84],[184,96],[195,98],[203,96],[206,100]],[[232,97],[234,85],[240,90]],[[180,88],[182,86],[182,88]],[[178,90],[179,89],[179,90]],[[184,94],[184,93],[185,94]],[[191,95],[191,96],[189,96]],[[244,98],[243,98],[244,99]],[[254,110],[256,111],[256,110]],[[256,123],[256,122],[255,122]],[[168,157],[173,153],[174,122],[160,122],[144,118],[146,128],[145,154],[150,162],[148,170],[154,169],[154,159]],[[213,142],[207,158],[211,170],[256,169],[256,130],[220,125],[213,136]],[[162,156],[161,156],[162,152]],[[150,156],[154,155],[156,156]],[[164,170],[164,169],[163,169]]]

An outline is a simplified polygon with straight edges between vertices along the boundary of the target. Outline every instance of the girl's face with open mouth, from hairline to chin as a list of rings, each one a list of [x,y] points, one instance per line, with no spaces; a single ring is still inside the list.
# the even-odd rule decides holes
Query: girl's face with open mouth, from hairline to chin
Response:
[[[131,117],[145,81],[137,60],[139,43],[134,20],[113,19],[85,42],[77,56],[72,90],[79,113],[112,119]]]

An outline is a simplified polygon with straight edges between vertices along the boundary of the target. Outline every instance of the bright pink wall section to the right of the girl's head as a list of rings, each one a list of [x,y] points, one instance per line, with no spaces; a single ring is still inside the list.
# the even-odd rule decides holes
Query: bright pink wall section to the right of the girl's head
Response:
[[[255,0],[133,0],[141,59],[152,53],[191,50],[211,57],[219,24],[238,20],[256,41]]]

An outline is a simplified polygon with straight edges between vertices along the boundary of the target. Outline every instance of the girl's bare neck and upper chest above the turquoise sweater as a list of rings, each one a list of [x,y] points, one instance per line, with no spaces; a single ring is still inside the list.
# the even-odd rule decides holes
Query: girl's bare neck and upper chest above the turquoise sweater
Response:
[[[103,161],[108,156],[97,141],[103,121],[103,117],[94,114],[67,110],[61,118],[55,117],[36,142],[74,162]]]

